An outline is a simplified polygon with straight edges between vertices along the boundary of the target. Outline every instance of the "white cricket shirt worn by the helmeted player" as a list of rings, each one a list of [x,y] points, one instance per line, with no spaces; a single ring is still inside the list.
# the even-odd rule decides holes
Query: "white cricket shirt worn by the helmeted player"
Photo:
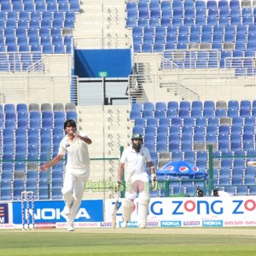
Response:
[[[137,153],[132,145],[128,148],[125,148],[120,162],[125,164],[125,178],[129,178],[135,174],[146,172],[146,163],[152,161],[148,148],[145,148],[142,145],[142,148]]]

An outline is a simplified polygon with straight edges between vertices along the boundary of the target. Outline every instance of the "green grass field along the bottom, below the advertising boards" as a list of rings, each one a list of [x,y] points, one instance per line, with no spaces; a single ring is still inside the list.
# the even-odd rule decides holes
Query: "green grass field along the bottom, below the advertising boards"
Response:
[[[0,230],[0,255],[256,255],[256,227]]]

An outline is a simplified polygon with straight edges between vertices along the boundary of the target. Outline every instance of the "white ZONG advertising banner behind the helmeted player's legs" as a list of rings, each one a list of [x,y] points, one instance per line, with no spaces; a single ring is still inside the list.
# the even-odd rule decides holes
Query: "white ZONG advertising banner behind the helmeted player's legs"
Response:
[[[122,221],[122,201],[119,200],[117,222]],[[107,222],[112,220],[114,202],[114,199],[105,202]],[[137,199],[134,204],[131,225],[137,222]],[[151,198],[148,221],[159,221],[160,226],[166,220],[180,222],[182,227],[255,226],[255,212],[256,196]]]

